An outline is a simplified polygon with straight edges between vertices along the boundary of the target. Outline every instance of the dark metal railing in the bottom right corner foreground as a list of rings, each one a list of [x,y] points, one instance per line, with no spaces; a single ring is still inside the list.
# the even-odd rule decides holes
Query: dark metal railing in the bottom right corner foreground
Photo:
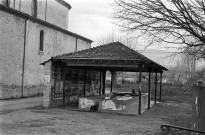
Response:
[[[196,133],[196,134],[200,133],[205,135],[205,131],[172,126],[172,125],[161,125],[161,130],[165,132],[165,135],[191,135],[192,133]]]

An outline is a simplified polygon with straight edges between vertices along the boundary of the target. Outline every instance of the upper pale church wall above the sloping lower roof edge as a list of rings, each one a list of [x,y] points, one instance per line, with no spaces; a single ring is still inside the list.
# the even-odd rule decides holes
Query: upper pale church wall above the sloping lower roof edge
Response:
[[[0,0],[2,4],[2,0]],[[34,15],[34,0],[10,0],[10,8]],[[37,0],[37,18],[68,29],[69,9],[55,0]]]

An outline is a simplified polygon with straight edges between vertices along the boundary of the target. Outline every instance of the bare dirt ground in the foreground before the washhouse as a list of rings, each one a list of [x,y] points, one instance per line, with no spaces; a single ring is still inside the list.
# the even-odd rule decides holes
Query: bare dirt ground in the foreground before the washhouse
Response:
[[[1,113],[0,133],[62,135],[151,135],[162,124],[187,126],[188,103],[160,103],[142,115],[71,111],[69,108],[24,108]]]

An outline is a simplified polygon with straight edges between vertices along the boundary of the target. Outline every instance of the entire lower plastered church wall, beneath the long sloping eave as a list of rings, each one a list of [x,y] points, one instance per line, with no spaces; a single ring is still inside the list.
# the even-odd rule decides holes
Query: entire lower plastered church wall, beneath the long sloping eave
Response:
[[[25,57],[24,34],[25,36]],[[24,96],[42,93],[44,66],[40,63],[51,56],[76,50],[76,37],[42,26],[36,22],[0,11],[0,99],[21,97],[23,58]],[[39,51],[40,31],[44,31],[44,51]],[[90,43],[77,40],[78,50],[87,49]]]

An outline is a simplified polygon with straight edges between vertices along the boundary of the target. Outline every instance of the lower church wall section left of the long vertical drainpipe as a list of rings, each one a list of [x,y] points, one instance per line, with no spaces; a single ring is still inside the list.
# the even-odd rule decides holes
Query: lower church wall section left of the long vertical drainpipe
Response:
[[[24,22],[0,11],[0,98],[21,95]]]

